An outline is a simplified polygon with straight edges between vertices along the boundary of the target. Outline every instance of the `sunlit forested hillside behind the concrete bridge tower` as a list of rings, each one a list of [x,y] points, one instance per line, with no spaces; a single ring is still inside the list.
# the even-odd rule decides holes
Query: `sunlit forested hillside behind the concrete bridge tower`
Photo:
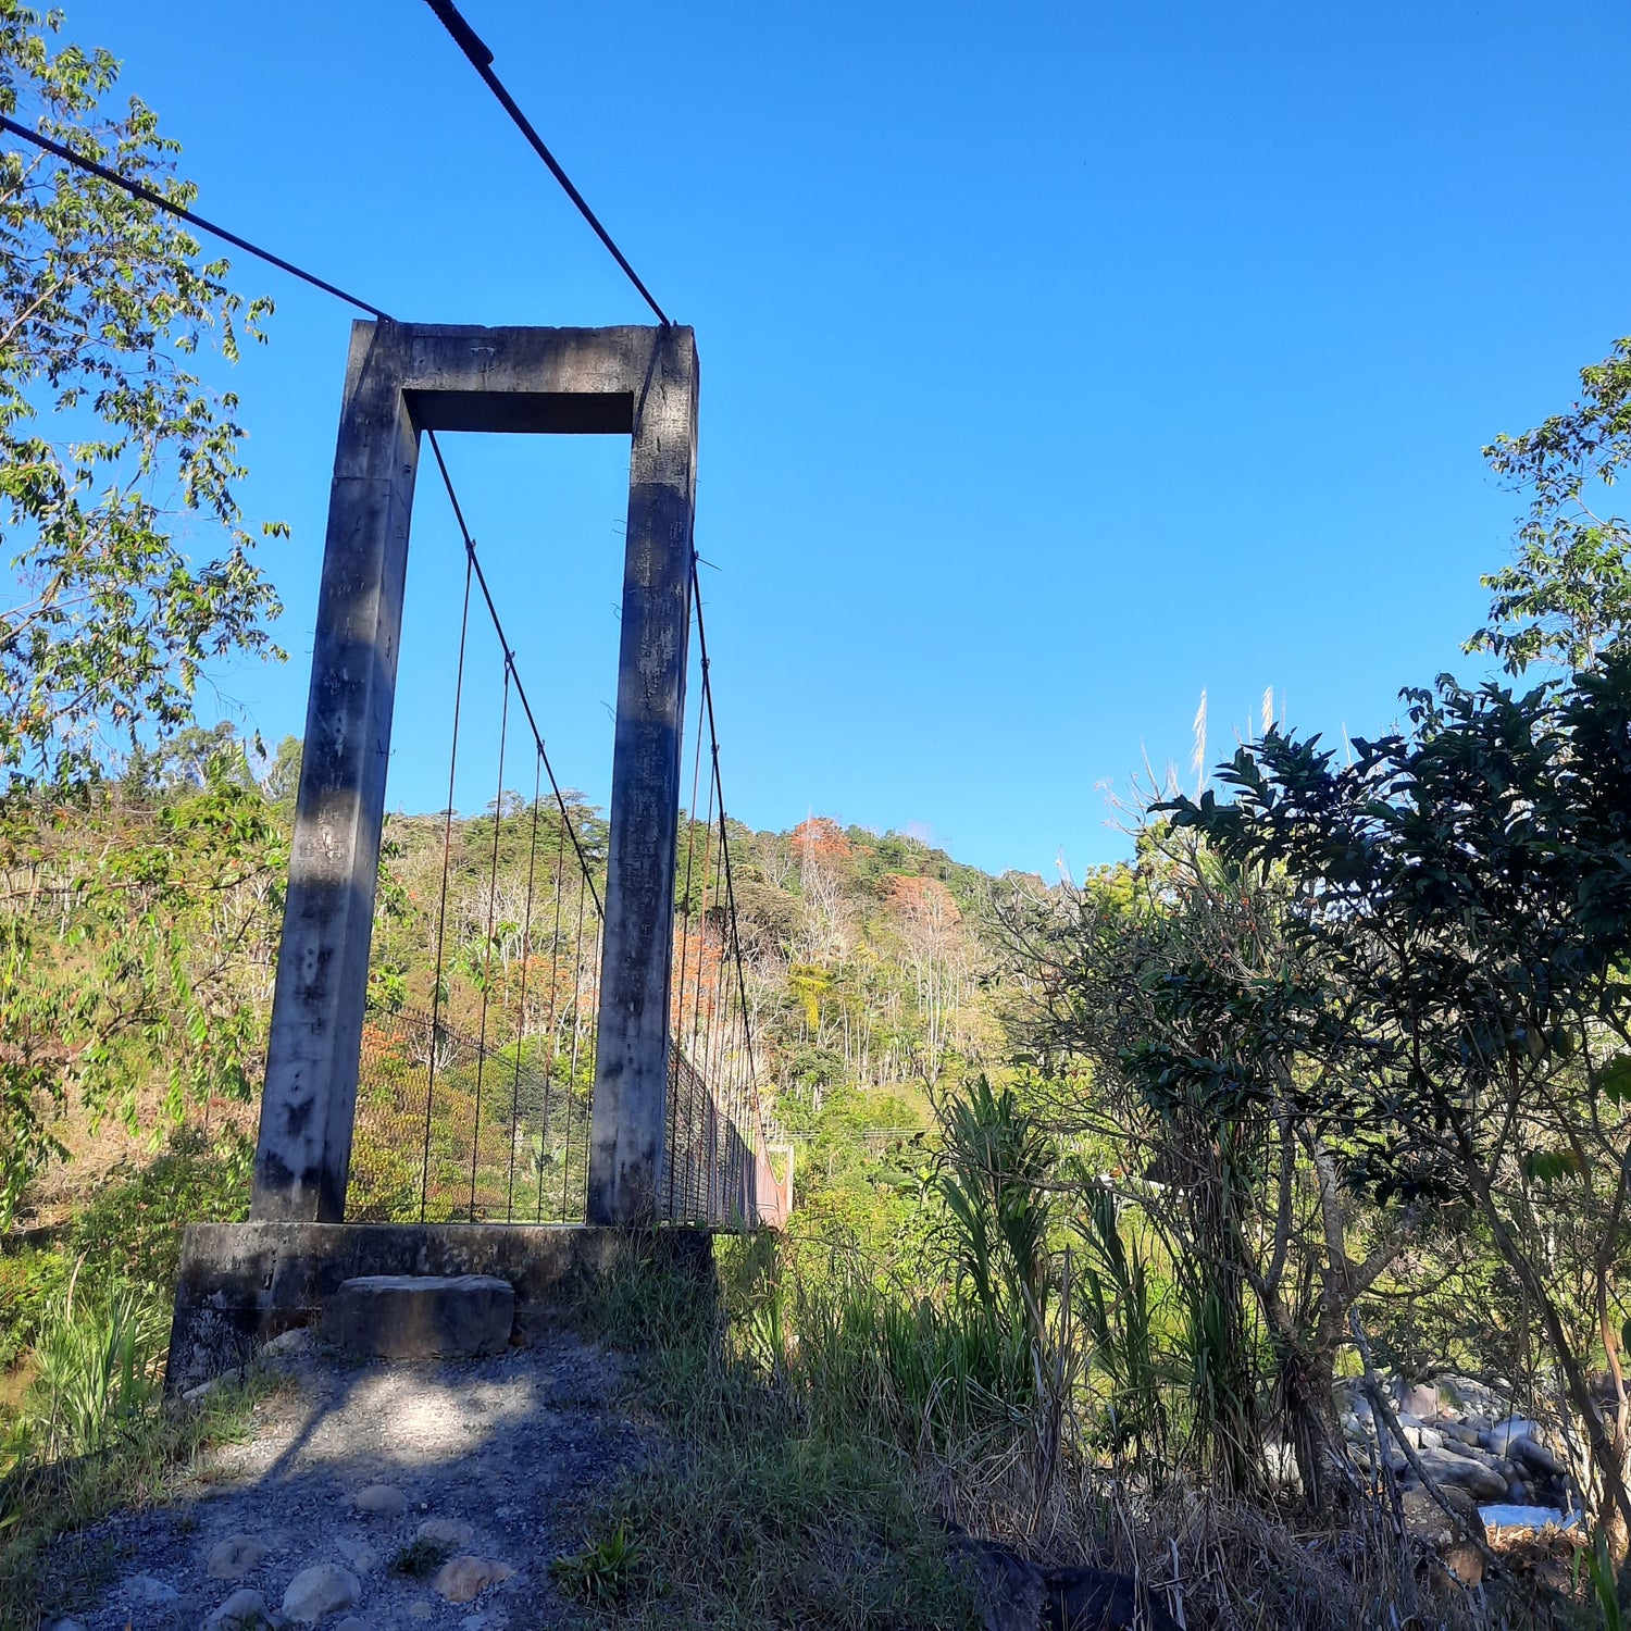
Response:
[[[7,1163],[18,1223],[64,1218],[111,1160],[134,1160],[175,1129],[253,1127],[297,773],[294,739],[251,767],[230,727],[196,731],[59,807],[39,845],[15,856],[13,899],[62,948],[29,956],[26,983],[10,992],[8,1041],[38,1083],[16,1101]],[[519,794],[497,820],[388,819],[370,1037],[429,1011],[439,928],[440,1023],[453,1032],[476,1032],[483,993],[514,992],[524,964],[543,962],[551,923],[537,881],[535,920],[524,922],[528,863],[546,877],[569,822],[603,882],[605,820],[571,794],[566,820],[553,801],[540,820],[535,851]],[[773,1137],[796,1151],[801,1209],[837,1205],[866,1230],[874,1191],[894,1194],[902,1148],[933,1127],[936,1094],[1001,1052],[982,933],[998,884],[918,838],[829,817],[788,832],[732,822],[731,842]],[[595,948],[577,949],[587,993]],[[533,972],[528,1034],[548,1006]],[[592,1008],[579,1006],[587,1088]],[[359,1166],[377,1155],[364,1142]]]

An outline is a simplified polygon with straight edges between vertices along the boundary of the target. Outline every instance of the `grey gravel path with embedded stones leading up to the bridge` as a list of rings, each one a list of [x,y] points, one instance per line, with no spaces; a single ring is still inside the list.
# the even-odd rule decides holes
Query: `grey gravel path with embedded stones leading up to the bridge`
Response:
[[[253,1626],[240,1592],[277,1620],[346,1631],[574,1623],[550,1559],[581,1546],[584,1496],[656,1443],[617,1403],[617,1354],[550,1333],[491,1360],[347,1367],[297,1347],[277,1365],[289,1385],[258,1408],[250,1442],[170,1505],[64,1541],[111,1545],[117,1572],[59,1626]],[[421,1574],[403,1574],[421,1533]],[[475,1562],[447,1572],[437,1554]]]

